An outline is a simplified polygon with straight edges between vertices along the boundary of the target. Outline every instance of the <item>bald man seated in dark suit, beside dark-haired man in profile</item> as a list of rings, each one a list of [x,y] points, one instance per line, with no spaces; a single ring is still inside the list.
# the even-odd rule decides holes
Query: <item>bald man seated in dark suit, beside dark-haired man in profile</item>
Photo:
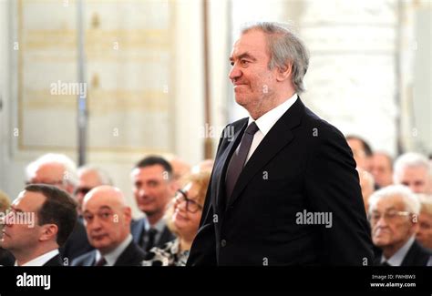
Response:
[[[73,266],[139,266],[143,250],[130,234],[131,209],[123,193],[99,186],[84,198],[83,217],[91,250],[72,261]]]

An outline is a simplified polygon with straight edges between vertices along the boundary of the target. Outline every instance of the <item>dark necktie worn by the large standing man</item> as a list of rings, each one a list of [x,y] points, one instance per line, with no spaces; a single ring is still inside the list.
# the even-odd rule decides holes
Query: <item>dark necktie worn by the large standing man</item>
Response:
[[[253,135],[258,131],[258,127],[253,121],[248,128],[244,131],[242,142],[240,143],[240,148],[232,154],[230,164],[227,168],[226,177],[226,194],[227,201],[231,198],[232,190],[234,189],[237,179],[239,179],[240,173],[246,161],[249,153],[249,149],[252,145]],[[228,202],[227,202],[228,205]]]

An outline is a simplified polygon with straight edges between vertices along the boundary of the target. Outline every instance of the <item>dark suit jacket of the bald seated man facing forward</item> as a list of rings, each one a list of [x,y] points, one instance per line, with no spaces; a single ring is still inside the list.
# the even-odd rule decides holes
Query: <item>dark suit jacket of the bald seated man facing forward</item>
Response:
[[[144,258],[144,251],[132,240],[128,247],[120,254],[114,266],[139,266]],[[73,260],[72,266],[93,266],[95,262],[96,250],[92,250]]]

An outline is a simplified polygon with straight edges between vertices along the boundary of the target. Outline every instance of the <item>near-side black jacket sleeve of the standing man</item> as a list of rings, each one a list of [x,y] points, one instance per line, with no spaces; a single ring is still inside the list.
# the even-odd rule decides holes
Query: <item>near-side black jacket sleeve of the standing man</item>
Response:
[[[332,214],[331,227],[320,226],[323,264],[372,265],[371,232],[351,149],[336,128],[318,130],[305,190],[314,212]]]

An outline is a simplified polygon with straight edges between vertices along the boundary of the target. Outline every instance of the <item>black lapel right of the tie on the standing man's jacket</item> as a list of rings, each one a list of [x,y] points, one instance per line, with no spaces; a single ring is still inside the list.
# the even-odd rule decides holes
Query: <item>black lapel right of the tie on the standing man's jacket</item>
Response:
[[[293,139],[291,129],[298,126],[303,116],[304,106],[300,97],[283,116],[274,124],[273,128],[262,138],[260,145],[255,149],[252,157],[248,160],[232,191],[229,205],[242,193],[242,190],[251,181],[252,177],[259,172],[283,147]],[[226,163],[229,162],[227,159]]]

